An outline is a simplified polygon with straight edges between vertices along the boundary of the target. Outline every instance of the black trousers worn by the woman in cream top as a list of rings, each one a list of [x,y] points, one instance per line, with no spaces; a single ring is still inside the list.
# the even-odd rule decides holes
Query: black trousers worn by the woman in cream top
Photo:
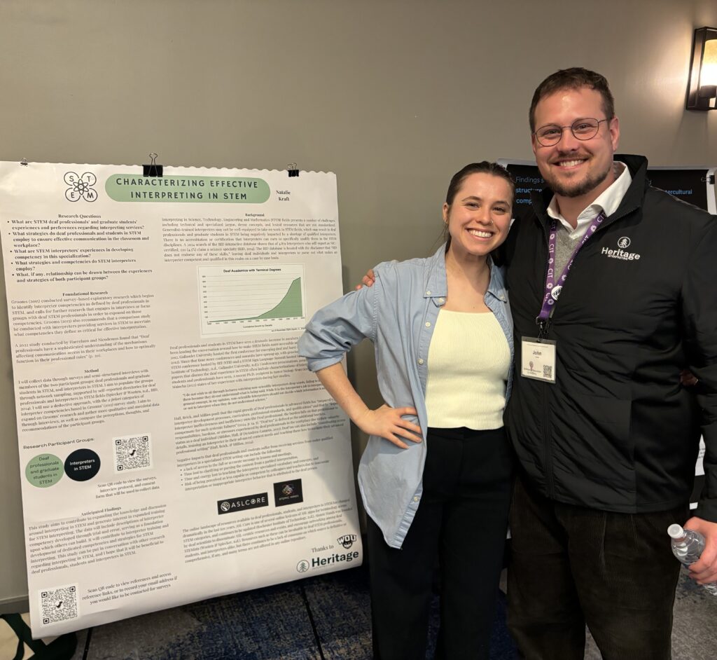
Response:
[[[374,657],[424,660],[436,560],[436,657],[488,659],[511,497],[513,457],[502,428],[429,429],[423,495],[401,550],[369,518]],[[386,494],[390,497],[391,494]]]

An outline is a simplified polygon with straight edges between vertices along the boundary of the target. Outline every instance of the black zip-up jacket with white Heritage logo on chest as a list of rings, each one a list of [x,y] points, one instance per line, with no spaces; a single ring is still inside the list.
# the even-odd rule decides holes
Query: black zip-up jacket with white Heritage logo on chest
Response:
[[[535,194],[511,229],[516,378],[505,423],[541,493],[625,513],[689,500],[702,433],[696,515],[717,522],[717,217],[650,187],[642,156],[616,159],[632,184],[576,255],[555,304],[554,385],[520,375],[521,338],[538,336],[552,193]],[[680,385],[685,367],[700,380],[693,390]]]

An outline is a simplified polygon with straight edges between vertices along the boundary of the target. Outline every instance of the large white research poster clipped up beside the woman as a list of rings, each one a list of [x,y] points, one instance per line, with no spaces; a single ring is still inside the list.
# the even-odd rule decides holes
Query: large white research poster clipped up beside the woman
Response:
[[[36,637],[361,562],[330,173],[0,163]]]

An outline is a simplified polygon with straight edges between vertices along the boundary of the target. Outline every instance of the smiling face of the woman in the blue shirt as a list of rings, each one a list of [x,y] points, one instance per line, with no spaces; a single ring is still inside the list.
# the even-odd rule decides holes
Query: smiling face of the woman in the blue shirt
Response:
[[[443,204],[443,221],[450,233],[449,252],[458,260],[485,261],[508,237],[513,209],[511,184],[502,176],[470,174]]]

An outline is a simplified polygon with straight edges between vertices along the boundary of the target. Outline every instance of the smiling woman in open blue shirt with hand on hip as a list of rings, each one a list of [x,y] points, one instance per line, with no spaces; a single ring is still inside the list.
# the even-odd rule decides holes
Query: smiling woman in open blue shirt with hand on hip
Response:
[[[488,658],[510,499],[503,408],[513,359],[490,252],[508,235],[514,195],[499,165],[465,166],[443,204],[445,245],[431,258],[377,265],[374,286],[318,311],[299,340],[309,369],[370,436],[359,487],[381,660],[424,659],[436,557],[437,657]],[[375,344],[377,410],[340,364],[364,338]]]

